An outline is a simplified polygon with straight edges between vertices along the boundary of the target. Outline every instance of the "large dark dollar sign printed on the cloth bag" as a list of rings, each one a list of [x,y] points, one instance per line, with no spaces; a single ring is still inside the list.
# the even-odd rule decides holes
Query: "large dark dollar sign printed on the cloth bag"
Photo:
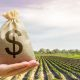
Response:
[[[18,36],[21,36],[21,33],[18,31],[18,30],[14,30],[14,32],[18,35]],[[13,58],[16,57],[16,55],[20,54],[22,52],[22,49],[23,49],[23,46],[20,42],[18,41],[15,41],[15,37],[13,36],[13,40],[9,39],[9,35],[13,33],[13,30],[10,30],[6,33],[5,35],[5,38],[8,42],[12,43],[13,45],[13,52],[11,52],[9,50],[9,48],[5,48],[6,52],[10,55],[13,55]],[[18,45],[19,46],[19,50],[18,51],[15,51],[15,46]]]

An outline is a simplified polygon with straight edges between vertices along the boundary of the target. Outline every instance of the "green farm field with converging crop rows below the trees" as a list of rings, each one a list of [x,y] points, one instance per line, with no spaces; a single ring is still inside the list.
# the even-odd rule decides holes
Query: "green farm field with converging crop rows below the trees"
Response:
[[[79,54],[35,53],[40,65],[20,76],[2,80],[80,80]]]

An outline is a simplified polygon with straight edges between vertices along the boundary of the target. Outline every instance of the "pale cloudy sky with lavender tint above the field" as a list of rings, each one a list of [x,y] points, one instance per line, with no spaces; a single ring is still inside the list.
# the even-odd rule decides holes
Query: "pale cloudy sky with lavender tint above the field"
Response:
[[[34,50],[80,49],[80,0],[0,0],[0,14],[14,8]]]

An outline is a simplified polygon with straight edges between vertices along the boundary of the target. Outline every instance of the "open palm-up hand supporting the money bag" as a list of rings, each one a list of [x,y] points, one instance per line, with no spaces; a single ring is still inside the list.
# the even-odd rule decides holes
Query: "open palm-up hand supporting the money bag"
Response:
[[[9,77],[17,74],[26,72],[27,70],[38,66],[39,63],[36,60],[31,60],[29,62],[24,61],[15,64],[0,64],[0,76]]]

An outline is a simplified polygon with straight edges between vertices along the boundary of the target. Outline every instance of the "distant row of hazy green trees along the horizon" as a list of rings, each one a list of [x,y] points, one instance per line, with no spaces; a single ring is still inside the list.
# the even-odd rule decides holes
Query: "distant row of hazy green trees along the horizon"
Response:
[[[47,54],[47,53],[50,53],[50,54],[55,54],[55,53],[71,53],[71,54],[80,54],[80,50],[78,49],[70,49],[70,50],[66,50],[66,49],[63,49],[63,50],[60,50],[60,49],[53,49],[53,50],[50,50],[50,49],[44,49],[44,48],[41,48],[40,50],[38,51],[34,51],[35,53],[41,53],[41,54]]]

